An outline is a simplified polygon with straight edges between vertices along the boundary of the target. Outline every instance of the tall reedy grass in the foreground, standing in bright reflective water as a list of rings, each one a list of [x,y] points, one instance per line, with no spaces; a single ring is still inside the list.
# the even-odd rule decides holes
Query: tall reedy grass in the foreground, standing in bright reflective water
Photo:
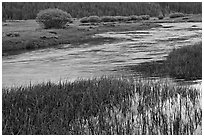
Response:
[[[4,88],[3,134],[195,134],[200,92],[168,82],[102,77]]]

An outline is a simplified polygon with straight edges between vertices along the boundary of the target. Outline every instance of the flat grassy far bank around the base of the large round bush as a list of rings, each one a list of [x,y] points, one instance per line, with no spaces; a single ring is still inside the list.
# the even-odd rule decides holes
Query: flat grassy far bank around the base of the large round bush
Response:
[[[2,27],[3,55],[13,51],[45,48],[60,44],[81,44],[85,42],[106,42],[117,40],[92,37],[94,34],[108,31],[142,30],[160,25],[155,23],[95,23],[81,24],[75,20],[64,29],[42,29],[35,20],[4,23]],[[15,36],[17,34],[17,36]]]

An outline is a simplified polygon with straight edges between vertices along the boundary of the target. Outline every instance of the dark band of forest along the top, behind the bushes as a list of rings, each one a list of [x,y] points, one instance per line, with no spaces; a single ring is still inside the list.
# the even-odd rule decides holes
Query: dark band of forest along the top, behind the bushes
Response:
[[[35,19],[40,10],[59,8],[73,18],[85,16],[166,15],[171,12],[202,13],[201,2],[3,2],[3,19]]]

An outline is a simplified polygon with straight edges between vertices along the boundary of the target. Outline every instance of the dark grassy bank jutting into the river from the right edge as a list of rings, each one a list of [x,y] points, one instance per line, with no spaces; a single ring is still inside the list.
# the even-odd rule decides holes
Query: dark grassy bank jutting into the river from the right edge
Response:
[[[142,63],[130,66],[145,76],[170,76],[177,79],[202,79],[202,43],[174,49],[166,60]]]

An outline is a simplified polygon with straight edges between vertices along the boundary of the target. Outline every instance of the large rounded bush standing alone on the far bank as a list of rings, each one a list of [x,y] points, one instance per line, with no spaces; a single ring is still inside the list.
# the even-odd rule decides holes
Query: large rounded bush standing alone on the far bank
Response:
[[[71,15],[60,9],[45,9],[37,14],[36,21],[44,28],[63,28],[71,22]]]

